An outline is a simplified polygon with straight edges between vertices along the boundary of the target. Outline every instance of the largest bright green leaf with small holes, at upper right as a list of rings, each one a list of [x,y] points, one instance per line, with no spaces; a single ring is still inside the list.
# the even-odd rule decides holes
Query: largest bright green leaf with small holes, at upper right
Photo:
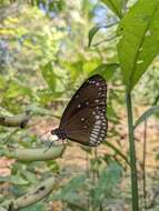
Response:
[[[118,56],[131,91],[159,52],[159,1],[139,0],[121,20]]]

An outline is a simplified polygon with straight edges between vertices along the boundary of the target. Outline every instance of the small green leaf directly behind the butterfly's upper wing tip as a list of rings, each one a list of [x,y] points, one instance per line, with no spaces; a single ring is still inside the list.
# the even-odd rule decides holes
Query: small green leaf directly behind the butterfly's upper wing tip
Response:
[[[107,80],[110,80],[113,73],[119,69],[118,63],[102,63],[97,67],[90,74],[101,74]]]

